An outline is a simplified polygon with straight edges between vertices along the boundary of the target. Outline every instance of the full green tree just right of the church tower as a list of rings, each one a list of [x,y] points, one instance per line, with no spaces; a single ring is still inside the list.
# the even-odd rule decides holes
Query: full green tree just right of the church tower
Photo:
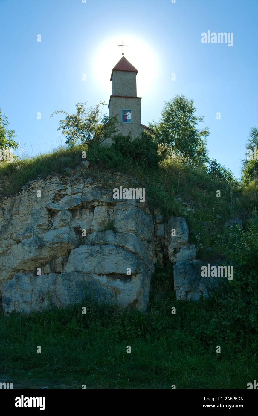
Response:
[[[150,127],[158,143],[172,146],[177,153],[188,155],[190,163],[203,166],[209,160],[206,137],[210,132],[208,127],[198,129],[198,123],[204,117],[195,116],[195,112],[192,99],[176,95],[170,101],[165,101],[160,121],[153,121]]]

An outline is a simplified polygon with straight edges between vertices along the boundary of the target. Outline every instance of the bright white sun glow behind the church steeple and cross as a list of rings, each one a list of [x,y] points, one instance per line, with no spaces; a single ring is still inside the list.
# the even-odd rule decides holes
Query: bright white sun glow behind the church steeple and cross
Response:
[[[104,43],[101,42],[93,59],[94,75],[98,84],[101,83],[106,89],[113,67],[122,58],[122,47],[118,47],[118,45],[122,45],[122,41],[124,45],[128,45],[128,47],[124,47],[125,58],[139,71],[137,74],[137,95],[142,97],[153,84],[159,60],[151,46],[139,38],[131,35],[117,35]],[[111,94],[111,83],[109,89]]]

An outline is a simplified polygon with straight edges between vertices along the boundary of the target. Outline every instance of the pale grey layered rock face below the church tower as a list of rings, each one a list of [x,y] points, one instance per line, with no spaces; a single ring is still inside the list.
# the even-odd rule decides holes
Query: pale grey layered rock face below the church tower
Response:
[[[145,310],[157,259],[174,263],[177,299],[198,299],[204,282],[185,218],[164,222],[147,199],[113,199],[113,188],[128,188],[132,178],[107,172],[91,178],[88,167],[84,161],[66,175],[37,179],[0,201],[3,310],[63,307],[88,290]]]

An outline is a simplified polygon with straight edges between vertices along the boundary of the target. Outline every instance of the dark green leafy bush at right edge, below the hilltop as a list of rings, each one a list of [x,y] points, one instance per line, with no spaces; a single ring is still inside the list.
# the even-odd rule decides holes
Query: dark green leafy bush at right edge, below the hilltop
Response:
[[[248,354],[258,347],[258,218],[246,230],[227,228],[215,243],[224,251],[224,264],[234,267],[234,277],[222,281],[205,301],[208,307],[196,330],[207,345],[214,339],[240,357],[247,354],[247,346]]]

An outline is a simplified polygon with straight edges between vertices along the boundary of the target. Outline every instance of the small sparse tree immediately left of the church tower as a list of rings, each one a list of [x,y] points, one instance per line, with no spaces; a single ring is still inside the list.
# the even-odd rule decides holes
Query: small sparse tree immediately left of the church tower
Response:
[[[64,120],[60,120],[59,128],[66,137],[68,147],[73,147],[76,143],[81,144],[101,144],[116,131],[116,117],[102,117],[101,106],[105,102],[96,104],[95,107],[86,109],[86,102],[76,104],[76,114],[69,114],[66,111],[58,110],[51,114],[51,117],[57,113],[66,115]]]

